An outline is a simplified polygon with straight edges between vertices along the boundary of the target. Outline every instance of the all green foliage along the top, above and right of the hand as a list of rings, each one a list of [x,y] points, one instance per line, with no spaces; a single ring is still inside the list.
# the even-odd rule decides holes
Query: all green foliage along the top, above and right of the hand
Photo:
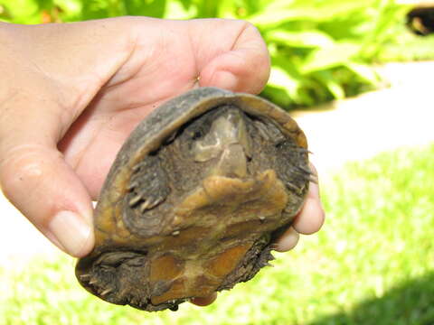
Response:
[[[70,22],[118,15],[254,23],[269,45],[263,95],[283,107],[310,106],[374,88],[368,63],[396,39],[405,7],[394,0],[0,0],[0,19]]]

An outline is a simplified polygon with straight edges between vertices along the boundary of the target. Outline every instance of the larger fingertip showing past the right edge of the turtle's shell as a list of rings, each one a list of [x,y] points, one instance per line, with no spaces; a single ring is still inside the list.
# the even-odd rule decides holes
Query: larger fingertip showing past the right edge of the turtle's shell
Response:
[[[317,177],[316,168],[310,164],[310,169]],[[300,234],[310,235],[316,233],[324,224],[325,212],[319,197],[319,187],[315,182],[310,182],[307,200],[293,223],[294,229]]]

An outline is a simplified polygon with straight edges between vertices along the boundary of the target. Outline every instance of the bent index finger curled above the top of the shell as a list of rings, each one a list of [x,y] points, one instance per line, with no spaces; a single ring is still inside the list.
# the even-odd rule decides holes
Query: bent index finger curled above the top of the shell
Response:
[[[199,53],[200,86],[253,94],[265,87],[269,52],[255,26],[242,21],[210,20],[208,25],[195,29],[198,32],[209,32],[208,40],[204,42],[199,37],[202,42],[195,46],[195,53]]]

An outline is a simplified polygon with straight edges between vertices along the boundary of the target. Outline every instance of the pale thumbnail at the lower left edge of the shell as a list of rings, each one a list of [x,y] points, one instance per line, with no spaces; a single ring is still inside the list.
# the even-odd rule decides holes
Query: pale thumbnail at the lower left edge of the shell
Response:
[[[48,228],[66,252],[73,256],[80,256],[83,247],[90,239],[90,226],[75,212],[58,212],[52,218]]]

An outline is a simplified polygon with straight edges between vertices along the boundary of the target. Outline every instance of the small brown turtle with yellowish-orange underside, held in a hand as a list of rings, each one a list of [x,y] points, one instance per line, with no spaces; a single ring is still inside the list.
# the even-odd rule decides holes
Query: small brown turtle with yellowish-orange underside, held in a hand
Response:
[[[203,87],[168,100],[109,170],[80,284],[106,302],[176,311],[250,280],[306,200],[308,153],[267,99]]]

